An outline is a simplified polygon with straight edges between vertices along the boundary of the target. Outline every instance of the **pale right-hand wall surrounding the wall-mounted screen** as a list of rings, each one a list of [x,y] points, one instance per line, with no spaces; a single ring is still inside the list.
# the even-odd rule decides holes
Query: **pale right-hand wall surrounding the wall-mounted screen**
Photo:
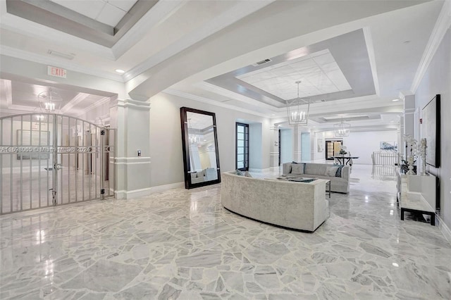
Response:
[[[440,218],[451,228],[451,32],[448,29],[419,88],[416,90],[416,107],[423,108],[435,94],[440,94],[440,168],[428,167],[440,178]],[[416,120],[418,122],[418,120]],[[419,125],[421,130],[421,125]]]

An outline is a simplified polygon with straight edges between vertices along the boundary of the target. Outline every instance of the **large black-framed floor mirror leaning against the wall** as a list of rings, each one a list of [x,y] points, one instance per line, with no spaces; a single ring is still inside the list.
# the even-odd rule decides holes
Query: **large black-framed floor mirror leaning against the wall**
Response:
[[[182,107],[180,120],[185,188],[221,182],[215,114]]]

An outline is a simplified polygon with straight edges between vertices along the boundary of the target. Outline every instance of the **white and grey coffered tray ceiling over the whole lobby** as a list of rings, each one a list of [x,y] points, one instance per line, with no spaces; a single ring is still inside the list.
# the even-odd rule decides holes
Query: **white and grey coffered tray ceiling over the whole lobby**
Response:
[[[402,112],[392,100],[412,87],[443,1],[0,0],[0,8],[1,61],[56,65],[113,80],[136,99],[165,92],[274,123],[300,80],[312,125],[343,117],[390,127],[387,116]],[[67,113],[114,94],[10,65],[0,65],[1,114],[34,109],[48,87],[65,95]]]

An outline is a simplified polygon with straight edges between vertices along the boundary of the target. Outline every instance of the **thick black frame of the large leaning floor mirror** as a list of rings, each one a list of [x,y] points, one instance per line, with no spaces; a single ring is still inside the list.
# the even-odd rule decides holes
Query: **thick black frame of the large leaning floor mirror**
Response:
[[[190,139],[188,138],[188,120],[187,112],[199,113],[202,115],[210,115],[213,118],[213,133],[214,133],[214,147],[216,152],[216,172],[218,179],[204,182],[192,183],[190,176]],[[221,182],[221,171],[219,168],[219,151],[218,151],[218,135],[216,132],[216,115],[209,111],[200,111],[199,109],[180,107],[180,123],[182,127],[182,146],[183,146],[183,172],[185,174],[185,189],[192,189],[194,187],[204,187],[206,185],[216,185]]]

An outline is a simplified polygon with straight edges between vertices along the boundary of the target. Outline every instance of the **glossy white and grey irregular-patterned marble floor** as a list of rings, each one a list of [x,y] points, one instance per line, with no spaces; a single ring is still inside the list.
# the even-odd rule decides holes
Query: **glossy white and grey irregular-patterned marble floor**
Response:
[[[261,175],[261,174],[260,174]],[[0,299],[451,299],[451,244],[354,165],[316,232],[221,206],[221,185],[0,216]]]

